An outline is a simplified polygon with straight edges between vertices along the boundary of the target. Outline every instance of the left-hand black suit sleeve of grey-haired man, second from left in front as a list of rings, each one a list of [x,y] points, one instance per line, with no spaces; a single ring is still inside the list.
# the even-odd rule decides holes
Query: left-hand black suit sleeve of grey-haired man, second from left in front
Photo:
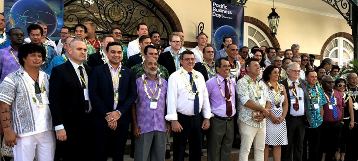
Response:
[[[50,83],[50,92],[49,92],[49,101],[50,101],[50,111],[52,116],[53,126],[58,126],[63,124],[63,116],[61,110],[61,89],[64,87],[62,86],[63,77],[58,68],[52,69],[52,74],[49,80]]]

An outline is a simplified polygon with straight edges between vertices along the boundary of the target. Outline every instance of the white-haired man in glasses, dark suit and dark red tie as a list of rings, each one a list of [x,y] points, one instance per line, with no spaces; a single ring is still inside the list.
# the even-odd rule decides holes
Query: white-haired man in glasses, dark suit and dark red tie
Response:
[[[305,126],[311,127],[308,84],[299,79],[299,69],[298,63],[289,63],[286,69],[288,78],[280,81],[286,88],[290,105],[286,115],[288,145],[282,146],[282,161],[302,161],[304,129]]]

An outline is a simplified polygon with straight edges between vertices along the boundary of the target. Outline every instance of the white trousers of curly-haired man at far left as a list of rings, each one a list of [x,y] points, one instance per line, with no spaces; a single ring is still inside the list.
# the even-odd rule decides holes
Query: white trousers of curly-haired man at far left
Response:
[[[14,161],[54,161],[55,158],[55,134],[54,131],[46,131],[39,134],[16,139],[17,145],[12,148]]]

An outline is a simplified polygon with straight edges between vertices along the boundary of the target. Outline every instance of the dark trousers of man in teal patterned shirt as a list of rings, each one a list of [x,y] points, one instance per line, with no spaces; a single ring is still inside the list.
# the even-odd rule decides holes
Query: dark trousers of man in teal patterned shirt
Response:
[[[318,161],[318,146],[321,134],[321,126],[317,128],[305,128],[303,139],[302,161]],[[308,159],[307,159],[308,143]]]

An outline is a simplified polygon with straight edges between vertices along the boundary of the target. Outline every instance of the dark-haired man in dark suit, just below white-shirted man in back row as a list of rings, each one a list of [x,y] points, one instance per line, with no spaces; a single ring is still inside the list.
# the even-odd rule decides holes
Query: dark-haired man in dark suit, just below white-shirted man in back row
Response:
[[[138,40],[139,47],[141,52],[132,56],[129,56],[128,62],[125,67],[132,68],[132,66],[142,63],[144,61],[144,48],[151,44],[150,37],[148,35],[143,35]]]

